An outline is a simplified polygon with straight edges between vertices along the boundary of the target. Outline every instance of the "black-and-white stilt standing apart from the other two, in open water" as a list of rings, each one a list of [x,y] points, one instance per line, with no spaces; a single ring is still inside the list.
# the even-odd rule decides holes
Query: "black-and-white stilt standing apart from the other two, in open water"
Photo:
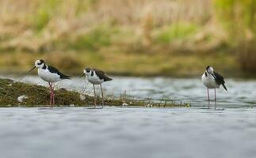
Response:
[[[209,88],[214,88],[214,95],[215,95],[215,109],[217,107],[216,105],[216,88],[220,88],[220,85],[224,87],[224,89],[227,91],[227,88],[225,86],[224,77],[220,75],[220,73],[216,73],[212,66],[207,66],[206,70],[202,76],[202,81],[207,87],[207,93],[208,93],[208,108],[210,108],[210,96],[209,96]]]

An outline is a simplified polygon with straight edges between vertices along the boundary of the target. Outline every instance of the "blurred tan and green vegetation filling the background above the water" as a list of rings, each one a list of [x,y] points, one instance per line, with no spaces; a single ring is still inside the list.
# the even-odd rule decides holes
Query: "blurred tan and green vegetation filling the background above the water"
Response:
[[[0,72],[256,76],[255,0],[0,0]]]

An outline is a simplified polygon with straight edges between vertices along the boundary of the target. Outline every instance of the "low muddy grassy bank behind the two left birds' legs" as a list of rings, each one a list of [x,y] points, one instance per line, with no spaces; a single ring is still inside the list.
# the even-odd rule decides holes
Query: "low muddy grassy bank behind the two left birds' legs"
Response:
[[[40,85],[29,85],[10,79],[0,79],[0,107],[48,107],[50,91]],[[55,90],[55,107],[88,107],[93,105],[94,97],[64,88]],[[97,97],[97,103],[101,99]],[[189,103],[172,103],[162,100],[154,103],[151,100],[129,100],[124,98],[106,98],[107,106],[128,107],[190,107]]]

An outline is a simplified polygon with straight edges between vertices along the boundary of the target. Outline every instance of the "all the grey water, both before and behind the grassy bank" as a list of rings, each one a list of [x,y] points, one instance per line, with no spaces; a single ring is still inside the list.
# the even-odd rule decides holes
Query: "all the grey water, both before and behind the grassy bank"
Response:
[[[34,76],[11,78],[47,85]],[[165,100],[182,100],[193,107],[0,108],[1,157],[254,158],[256,82],[226,82],[228,92],[217,90],[218,106],[226,107],[224,111],[201,108],[207,102],[200,79],[164,77],[114,77],[103,87],[110,96],[126,92],[136,99],[159,101],[164,95]],[[91,94],[91,85],[84,85],[82,78],[74,78],[57,86]]]

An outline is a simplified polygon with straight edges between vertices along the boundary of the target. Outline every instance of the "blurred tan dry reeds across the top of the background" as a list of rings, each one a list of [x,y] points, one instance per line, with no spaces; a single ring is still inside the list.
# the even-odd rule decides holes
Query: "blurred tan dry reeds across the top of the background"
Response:
[[[48,0],[49,1],[49,0]],[[45,1],[45,2],[48,2]],[[206,24],[212,18],[211,0],[89,0],[58,1],[48,24],[36,32],[33,20],[41,0],[0,0],[0,36],[4,50],[51,51],[55,41],[76,38],[99,24],[113,22],[135,30],[143,45],[151,44],[151,30],[178,21]],[[84,6],[83,6],[84,5]],[[82,8],[78,12],[78,6]]]

